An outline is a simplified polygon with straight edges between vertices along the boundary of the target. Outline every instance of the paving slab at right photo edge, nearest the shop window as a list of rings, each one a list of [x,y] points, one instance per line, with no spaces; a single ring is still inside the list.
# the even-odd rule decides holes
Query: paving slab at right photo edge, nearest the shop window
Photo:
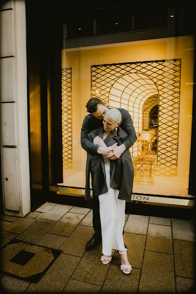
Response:
[[[195,241],[191,221],[172,219],[173,239]]]

